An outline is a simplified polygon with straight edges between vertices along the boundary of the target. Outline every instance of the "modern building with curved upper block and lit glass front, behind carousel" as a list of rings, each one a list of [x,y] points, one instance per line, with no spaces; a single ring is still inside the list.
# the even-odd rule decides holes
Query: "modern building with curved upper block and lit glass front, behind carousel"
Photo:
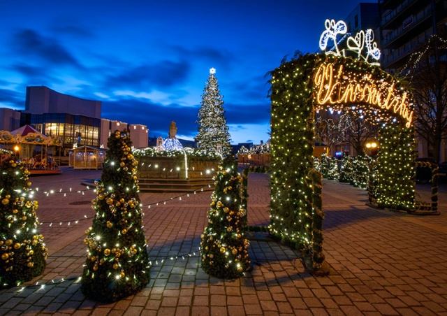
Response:
[[[28,124],[46,136],[59,136],[64,149],[75,145],[107,148],[112,131],[127,129],[135,148],[147,147],[145,125],[101,118],[101,106],[101,101],[61,94],[48,87],[27,87],[24,111],[0,109],[0,115],[4,113],[1,129],[12,131]]]

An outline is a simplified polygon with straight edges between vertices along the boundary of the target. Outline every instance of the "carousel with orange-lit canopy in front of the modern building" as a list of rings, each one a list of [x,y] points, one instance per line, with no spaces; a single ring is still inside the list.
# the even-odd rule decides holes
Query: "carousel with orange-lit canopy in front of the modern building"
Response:
[[[0,131],[0,145],[5,146],[3,150],[7,151],[1,154],[2,160],[13,157],[22,161],[31,175],[61,173],[52,155],[54,148],[62,145],[59,137],[45,136],[33,127],[24,125],[14,131]]]

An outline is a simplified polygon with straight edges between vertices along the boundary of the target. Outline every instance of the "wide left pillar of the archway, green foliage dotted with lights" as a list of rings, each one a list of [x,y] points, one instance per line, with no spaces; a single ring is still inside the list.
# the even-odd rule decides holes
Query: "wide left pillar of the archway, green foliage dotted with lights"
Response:
[[[314,55],[272,71],[270,234],[300,250],[312,246],[312,199],[307,174],[314,165]]]

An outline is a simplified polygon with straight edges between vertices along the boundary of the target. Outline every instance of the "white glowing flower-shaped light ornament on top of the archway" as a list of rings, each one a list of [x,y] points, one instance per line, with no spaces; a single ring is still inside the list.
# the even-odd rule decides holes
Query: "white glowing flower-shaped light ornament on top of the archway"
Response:
[[[374,31],[372,29],[361,30],[354,36],[351,36],[351,34],[347,33],[348,27],[346,27],[344,21],[335,22],[335,20],[329,19],[325,21],[325,28],[325,31],[320,36],[319,43],[323,52],[343,57],[353,56],[374,66],[380,66],[380,63],[377,61],[380,59],[381,52],[377,48],[377,43],[374,42]],[[337,41],[339,35],[343,36]],[[346,42],[344,42],[345,39]],[[330,40],[333,42],[333,46],[330,46],[330,49],[326,51]],[[346,48],[339,48],[342,42],[346,43]],[[365,50],[366,55],[363,55]],[[372,60],[372,62],[369,62],[369,60]]]

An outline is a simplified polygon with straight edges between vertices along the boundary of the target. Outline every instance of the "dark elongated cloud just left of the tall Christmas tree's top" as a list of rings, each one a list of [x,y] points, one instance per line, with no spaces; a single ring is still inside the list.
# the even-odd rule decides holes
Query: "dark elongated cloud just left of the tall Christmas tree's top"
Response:
[[[167,88],[185,82],[191,66],[186,60],[173,62],[165,60],[156,64],[140,65],[117,71],[117,75],[105,78],[105,87],[150,91]]]

